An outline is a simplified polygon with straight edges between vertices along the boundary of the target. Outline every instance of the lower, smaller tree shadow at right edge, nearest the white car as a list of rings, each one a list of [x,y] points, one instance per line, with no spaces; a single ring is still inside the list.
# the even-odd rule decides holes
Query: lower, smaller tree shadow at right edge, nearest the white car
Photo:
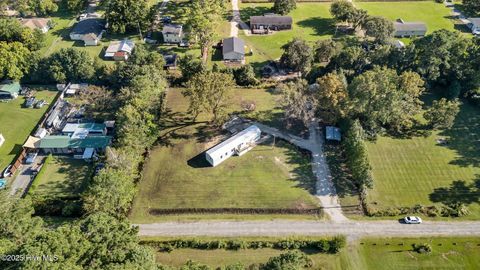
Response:
[[[432,202],[443,203],[445,205],[480,203],[480,175],[477,179],[467,184],[463,180],[454,181],[450,187],[440,187],[434,189],[429,195]]]

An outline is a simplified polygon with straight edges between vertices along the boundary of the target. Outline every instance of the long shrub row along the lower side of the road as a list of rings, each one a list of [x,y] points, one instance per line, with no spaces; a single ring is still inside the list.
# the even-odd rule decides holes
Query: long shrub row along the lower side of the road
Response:
[[[330,239],[302,240],[283,239],[266,241],[244,241],[244,240],[213,240],[203,241],[198,239],[176,239],[169,241],[144,240],[140,242],[164,252],[171,252],[175,249],[261,249],[275,248],[280,250],[311,249],[319,253],[338,253],[346,244],[344,236],[336,236]]]

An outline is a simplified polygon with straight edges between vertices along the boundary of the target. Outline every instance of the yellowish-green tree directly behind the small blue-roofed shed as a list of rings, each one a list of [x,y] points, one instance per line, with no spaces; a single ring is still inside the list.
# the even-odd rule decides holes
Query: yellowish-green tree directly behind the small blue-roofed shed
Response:
[[[317,111],[320,119],[336,123],[348,112],[347,83],[343,75],[328,73],[317,79],[315,91]]]

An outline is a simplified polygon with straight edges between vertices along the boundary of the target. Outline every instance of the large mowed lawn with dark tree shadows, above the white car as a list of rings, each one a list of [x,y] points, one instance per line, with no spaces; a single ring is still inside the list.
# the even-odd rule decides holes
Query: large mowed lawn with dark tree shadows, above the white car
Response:
[[[437,139],[445,138],[446,145]],[[368,143],[375,207],[464,202],[480,218],[480,110],[463,104],[450,130],[427,137],[379,137]],[[475,202],[476,201],[476,202]]]

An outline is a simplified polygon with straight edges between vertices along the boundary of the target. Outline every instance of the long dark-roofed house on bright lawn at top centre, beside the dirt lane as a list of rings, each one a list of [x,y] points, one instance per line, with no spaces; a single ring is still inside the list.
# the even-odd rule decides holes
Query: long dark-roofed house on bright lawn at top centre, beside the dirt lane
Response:
[[[265,34],[270,31],[281,31],[292,29],[293,19],[290,16],[277,14],[264,14],[263,16],[250,17],[250,29],[254,34]]]

